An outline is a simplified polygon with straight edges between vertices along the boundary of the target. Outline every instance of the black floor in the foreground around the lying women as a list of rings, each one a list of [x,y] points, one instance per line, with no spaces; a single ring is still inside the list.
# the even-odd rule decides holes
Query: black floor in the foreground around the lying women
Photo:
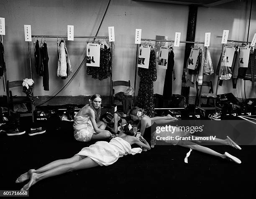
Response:
[[[26,123],[26,122],[25,122]],[[24,124],[24,122],[23,122]],[[73,137],[72,122],[61,130],[28,136],[0,134],[0,190],[20,190],[16,178],[31,168],[72,157],[91,143]],[[192,151],[156,145],[150,151],[120,158],[110,166],[74,171],[44,179],[29,191],[31,198],[256,198],[256,146],[209,146],[241,159],[241,164]]]

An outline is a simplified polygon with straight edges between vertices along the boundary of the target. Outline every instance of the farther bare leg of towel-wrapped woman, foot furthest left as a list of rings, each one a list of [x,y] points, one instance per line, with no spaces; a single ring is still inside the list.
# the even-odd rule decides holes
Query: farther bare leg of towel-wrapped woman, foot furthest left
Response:
[[[20,182],[28,180],[30,178],[31,173],[43,173],[43,172],[48,171],[48,170],[50,170],[52,168],[55,168],[57,166],[60,166],[60,165],[63,165],[63,164],[73,163],[73,162],[82,160],[83,158],[85,158],[85,156],[75,155],[72,158],[60,159],[60,160],[53,161],[53,162],[51,162],[51,163],[49,163],[49,164],[47,164],[47,165],[45,165],[41,168],[38,168],[36,170],[35,169],[30,169],[28,172],[23,173],[22,175],[20,175],[15,182],[20,183]]]

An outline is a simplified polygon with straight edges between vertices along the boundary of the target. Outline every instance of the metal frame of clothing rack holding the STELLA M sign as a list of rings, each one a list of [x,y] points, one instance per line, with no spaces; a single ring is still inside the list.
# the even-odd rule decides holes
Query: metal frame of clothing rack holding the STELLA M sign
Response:
[[[32,35],[31,37],[41,37],[41,38],[67,38],[68,36],[53,36],[53,35]],[[108,39],[109,37],[102,36],[74,36],[74,38],[94,38],[94,39]],[[111,66],[110,66],[110,107],[112,106],[111,102],[111,82],[112,82],[112,67],[113,67],[113,42],[111,42]],[[28,53],[29,53],[29,66],[30,66],[30,75],[32,79],[32,69],[31,69],[31,49],[30,49],[30,41],[28,41]]]

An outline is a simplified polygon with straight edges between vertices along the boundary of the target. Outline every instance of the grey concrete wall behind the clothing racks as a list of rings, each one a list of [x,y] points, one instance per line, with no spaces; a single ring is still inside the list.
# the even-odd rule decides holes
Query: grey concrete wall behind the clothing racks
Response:
[[[67,35],[67,25],[74,25],[74,35],[93,36],[100,24],[108,4],[107,0],[0,0],[0,17],[5,18],[6,35],[5,58],[8,79],[10,81],[29,77],[28,44],[24,41],[23,25],[31,25],[34,35]],[[253,7],[249,41],[256,32],[256,8]],[[139,2],[132,0],[111,0],[105,20],[98,36],[108,36],[108,26],[115,26],[115,45],[113,58],[113,80],[131,80],[134,84],[136,45],[135,29],[142,29],[142,38],[155,38],[156,35],[173,39],[175,32],[181,32],[181,40],[186,39],[188,6],[164,3]],[[221,51],[223,29],[230,30],[229,38],[245,40],[248,26],[248,4],[245,0],[234,1],[214,8],[198,8],[196,41],[204,41],[205,32],[211,32],[211,55],[216,67]],[[40,38],[41,39],[41,38]],[[32,38],[33,41],[33,38]],[[74,71],[78,68],[86,52],[85,39],[67,41]],[[56,39],[47,39],[49,53],[49,86],[44,91],[42,78],[33,69],[35,83],[34,95],[54,95],[69,80],[56,76],[57,44]],[[174,48],[175,70],[177,79],[173,84],[173,93],[181,92],[181,76],[184,62],[184,44]],[[33,66],[33,42],[31,43]],[[162,94],[165,71],[158,70],[158,80],[154,82],[154,92]],[[216,86],[217,79],[212,77]],[[248,82],[248,81],[247,81]],[[139,77],[137,79],[138,91]],[[240,85],[241,84],[241,85]],[[246,83],[247,97],[256,97],[255,89],[251,92],[251,83]],[[82,65],[78,74],[59,95],[109,94],[110,79],[94,80],[86,74]],[[224,82],[219,93],[233,92],[243,97],[243,82],[238,82],[237,89],[232,89],[231,80]],[[190,89],[195,95],[195,89]],[[16,94],[21,94],[16,90]],[[4,94],[0,85],[0,95]]]

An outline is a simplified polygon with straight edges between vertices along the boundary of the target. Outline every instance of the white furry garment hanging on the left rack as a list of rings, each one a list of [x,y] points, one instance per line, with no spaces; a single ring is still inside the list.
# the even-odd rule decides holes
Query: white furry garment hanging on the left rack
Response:
[[[58,47],[58,68],[57,68],[58,77],[67,77],[67,61],[65,53],[65,44],[61,40]]]

